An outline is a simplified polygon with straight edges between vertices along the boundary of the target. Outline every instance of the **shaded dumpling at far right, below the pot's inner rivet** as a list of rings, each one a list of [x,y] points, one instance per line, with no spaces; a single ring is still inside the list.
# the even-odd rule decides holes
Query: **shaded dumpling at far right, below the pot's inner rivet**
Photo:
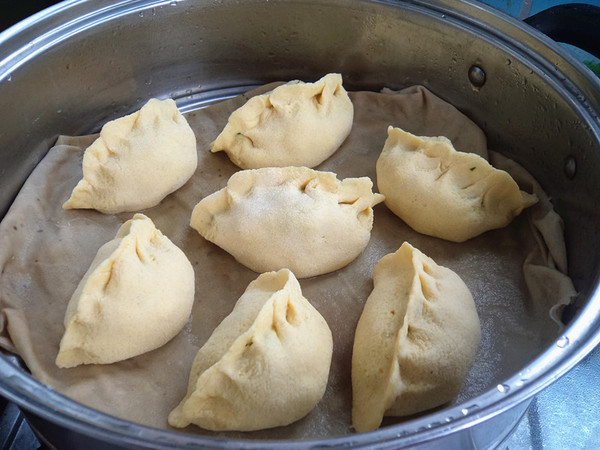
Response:
[[[537,202],[507,172],[456,151],[445,137],[393,127],[377,160],[377,187],[414,230],[454,242],[502,228]]]

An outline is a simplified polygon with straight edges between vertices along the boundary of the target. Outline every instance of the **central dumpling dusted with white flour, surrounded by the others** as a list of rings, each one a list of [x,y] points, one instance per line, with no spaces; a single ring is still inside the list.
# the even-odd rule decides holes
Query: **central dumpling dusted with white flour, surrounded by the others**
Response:
[[[190,225],[255,272],[288,268],[298,278],[333,272],[366,247],[372,206],[383,200],[369,178],[338,180],[306,167],[243,170],[205,197]]]

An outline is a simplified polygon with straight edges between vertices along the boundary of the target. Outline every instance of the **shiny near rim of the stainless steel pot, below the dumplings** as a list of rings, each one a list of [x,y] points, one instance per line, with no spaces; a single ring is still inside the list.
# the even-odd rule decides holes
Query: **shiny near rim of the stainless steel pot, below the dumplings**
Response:
[[[593,301],[583,313],[591,314],[594,311],[600,311],[600,289],[595,293]],[[516,405],[527,402],[533,395],[568,372],[600,343],[600,337],[597,335],[589,340],[571,341],[570,336],[578,335],[578,328],[585,328],[584,333],[593,331],[590,329],[592,327],[582,324],[582,321],[574,323],[565,330],[562,337],[551,348],[536,358],[522,372],[471,399],[466,404],[455,405],[421,418],[407,420],[398,425],[380,428],[369,433],[311,441],[286,441],[285,446],[287,448],[349,445],[360,447],[374,444],[384,445],[391,441],[396,447],[410,446],[442,437],[448,433],[449,428],[456,432],[472,427]],[[567,361],[561,360],[569,347],[577,348],[571,358]],[[198,445],[214,448],[244,446],[251,449],[278,448],[282,445],[282,442],[231,441],[224,438],[160,430],[119,419],[63,396],[27,375],[4,356],[0,358],[0,374],[3,379],[3,383],[0,384],[0,392],[10,401],[52,423],[114,444],[164,449]]]

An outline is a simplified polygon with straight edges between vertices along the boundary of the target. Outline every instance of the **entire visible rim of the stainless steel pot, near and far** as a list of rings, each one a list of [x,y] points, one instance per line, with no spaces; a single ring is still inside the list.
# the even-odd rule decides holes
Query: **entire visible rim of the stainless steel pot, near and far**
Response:
[[[76,33],[95,25],[113,20],[124,14],[139,13],[140,11],[152,10],[152,8],[177,5],[174,1],[149,1],[149,0],[125,0],[114,4],[108,4],[97,10],[91,10],[93,5],[86,5],[84,0],[68,0],[42,11],[29,19],[15,25],[14,27],[0,33],[0,81],[10,81],[11,73],[23,64],[26,64],[37,54],[57,45]],[[318,3],[318,1],[317,1]],[[345,3],[340,1],[339,3]],[[375,3],[375,2],[373,2]],[[393,7],[398,7],[398,2],[379,1]],[[595,134],[600,141],[600,126],[598,112],[586,98],[582,97],[578,89],[562,75],[558,68],[552,66],[548,61],[536,52],[529,50],[525,45],[517,42],[506,42],[506,36],[502,30],[491,30],[489,26],[476,23],[476,19],[469,14],[486,16],[498,16],[499,13],[491,8],[465,1],[458,9],[450,8],[449,2],[432,1],[435,4],[435,15],[446,20],[453,20],[457,24],[468,24],[469,26],[486,30],[492,33],[493,39],[501,44],[510,44],[512,52],[517,56],[533,59],[541,65],[543,70],[549,70],[547,77],[552,84],[560,89],[561,94],[568,99],[572,106],[587,117],[587,123],[595,129]],[[408,1],[411,8],[423,9],[431,12],[431,5],[425,1]],[[448,6],[446,8],[446,6]],[[87,8],[87,9],[86,9]],[[90,11],[91,10],[91,11]],[[87,11],[87,12],[86,12]],[[60,23],[61,16],[73,12],[75,16],[71,20]],[[85,12],[85,13],[84,13]],[[589,71],[576,62],[565,50],[557,44],[545,38],[540,33],[531,30],[527,25],[501,15],[504,27],[509,27],[517,35],[527,34],[532,39],[541,40],[550,51],[553,51],[573,64],[583,76],[589,78],[600,92],[600,83],[592,79]],[[19,45],[20,36],[27,35],[32,30],[41,30],[41,34],[33,37],[27,45]],[[7,54],[5,54],[5,50]],[[542,70],[542,69],[540,69]],[[587,72],[586,72],[587,71]],[[498,415],[515,405],[526,402],[533,395],[553,381],[564,375],[585,355],[587,355],[598,343],[600,334],[595,331],[600,328],[600,288],[590,296],[587,306],[580,312],[578,317],[564,331],[554,345],[537,357],[521,372],[505,380],[498,386],[473,398],[466,404],[455,405],[440,411],[433,412],[427,416],[407,420],[398,425],[381,428],[375,432],[363,433],[339,438],[325,440],[286,442],[286,446],[348,446],[368,445],[373,443],[385,443],[394,440],[394,445],[411,445],[423,442],[423,438],[435,439],[448,433],[449,427],[453,431],[468,428]],[[593,321],[586,321],[585,317],[595,317]],[[0,393],[15,402],[22,408],[33,412],[39,417],[50,422],[63,425],[75,431],[81,431],[89,436],[95,436],[102,440],[113,439],[114,442],[122,444],[150,446],[155,448],[189,447],[194,445],[209,445],[220,448],[244,445],[248,448],[281,446],[281,443],[264,441],[228,441],[224,439],[209,438],[193,434],[159,430],[133,424],[126,420],[98,412],[85,407],[63,395],[53,391],[27,375],[22,369],[14,365],[8,358],[0,358]],[[483,406],[482,406],[483,405]]]

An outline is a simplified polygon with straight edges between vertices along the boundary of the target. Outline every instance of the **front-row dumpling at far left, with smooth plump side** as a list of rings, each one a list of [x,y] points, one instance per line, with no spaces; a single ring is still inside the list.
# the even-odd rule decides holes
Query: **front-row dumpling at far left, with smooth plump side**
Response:
[[[110,364],[154,350],[181,331],[193,302],[187,257],[136,214],[100,247],[73,293],[56,365]]]

